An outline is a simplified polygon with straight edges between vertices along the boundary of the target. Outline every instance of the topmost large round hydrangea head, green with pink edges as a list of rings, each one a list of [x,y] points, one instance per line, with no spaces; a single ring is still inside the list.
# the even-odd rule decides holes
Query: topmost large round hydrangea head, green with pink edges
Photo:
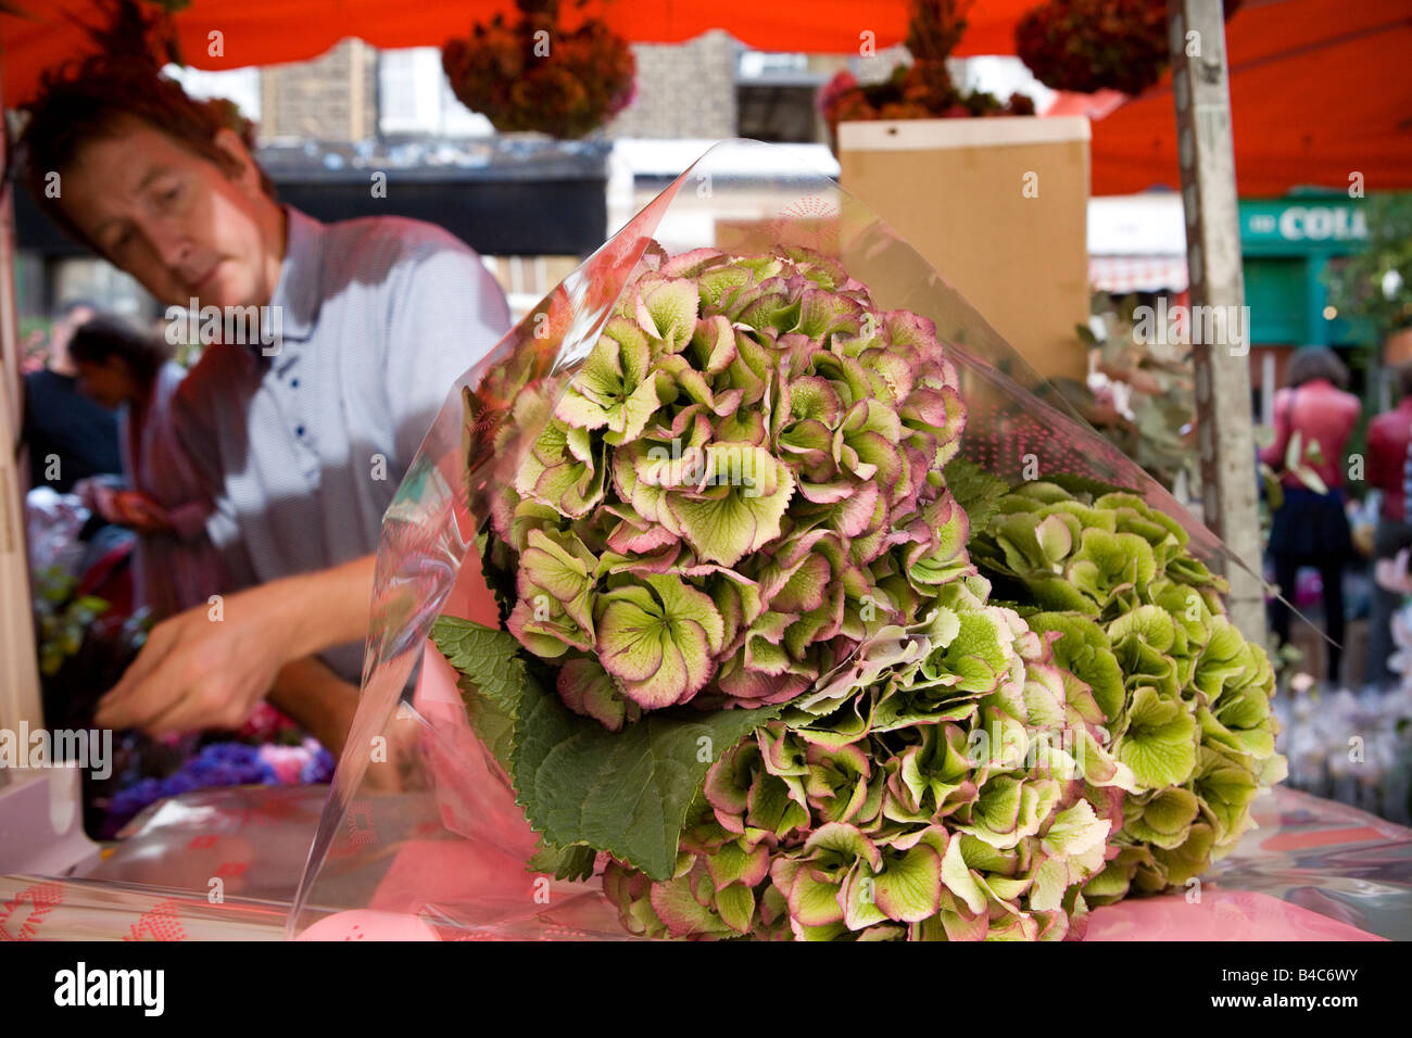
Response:
[[[493,525],[508,630],[604,723],[794,699],[966,571],[956,370],[822,256],[650,251],[527,395]]]

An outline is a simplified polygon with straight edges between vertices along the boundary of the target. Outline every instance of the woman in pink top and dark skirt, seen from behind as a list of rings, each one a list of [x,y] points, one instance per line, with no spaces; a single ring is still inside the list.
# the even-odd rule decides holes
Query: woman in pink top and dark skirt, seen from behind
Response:
[[[1348,369],[1327,349],[1300,349],[1289,362],[1289,387],[1275,394],[1275,442],[1260,453],[1274,469],[1285,467],[1285,451],[1295,432],[1303,442],[1303,465],[1319,473],[1329,487],[1320,494],[1298,476],[1281,479],[1284,504],[1275,510],[1269,532],[1269,554],[1275,561],[1275,582],[1286,599],[1295,595],[1300,566],[1313,566],[1323,582],[1324,628],[1329,647],[1329,682],[1339,684],[1343,644],[1343,563],[1353,555],[1348,515],[1344,511],[1343,448],[1358,424],[1363,405],[1348,386]],[[1312,445],[1320,460],[1313,460]],[[1271,603],[1271,626],[1279,644],[1289,641],[1289,606]]]

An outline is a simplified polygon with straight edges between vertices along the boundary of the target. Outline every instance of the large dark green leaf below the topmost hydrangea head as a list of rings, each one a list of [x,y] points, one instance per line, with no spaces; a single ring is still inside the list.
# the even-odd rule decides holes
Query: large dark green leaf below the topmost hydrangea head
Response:
[[[511,756],[518,804],[548,842],[587,843],[668,880],[706,770],[779,709],[676,708],[613,733],[527,681]]]

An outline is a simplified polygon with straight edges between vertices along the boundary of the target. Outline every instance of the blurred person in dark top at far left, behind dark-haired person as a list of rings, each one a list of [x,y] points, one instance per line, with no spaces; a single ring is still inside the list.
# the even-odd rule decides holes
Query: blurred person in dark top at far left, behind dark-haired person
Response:
[[[79,480],[123,470],[117,415],[78,391],[69,359],[75,329],[95,315],[92,304],[71,299],[54,315],[45,366],[24,377],[20,443],[30,452],[30,486],[66,494]]]

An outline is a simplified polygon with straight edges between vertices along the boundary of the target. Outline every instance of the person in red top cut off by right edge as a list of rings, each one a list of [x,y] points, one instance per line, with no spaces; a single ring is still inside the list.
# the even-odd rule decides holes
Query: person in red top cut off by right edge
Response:
[[[1408,445],[1412,443],[1412,363],[1396,369],[1395,377],[1401,397],[1398,405],[1368,422],[1368,486],[1382,491],[1378,530],[1372,539],[1374,566],[1381,559],[1395,558],[1401,548],[1412,544],[1404,484]],[[1392,614],[1401,602],[1399,593],[1374,582],[1364,685],[1381,689],[1395,679],[1388,660],[1392,655]]]

